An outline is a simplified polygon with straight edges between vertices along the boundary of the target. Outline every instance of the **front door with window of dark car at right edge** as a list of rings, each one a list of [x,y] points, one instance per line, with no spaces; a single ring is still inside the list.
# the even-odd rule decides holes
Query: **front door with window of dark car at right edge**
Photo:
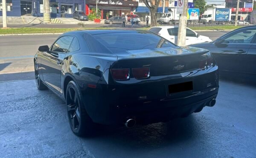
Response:
[[[221,71],[240,74],[247,71],[247,53],[253,45],[255,33],[256,27],[239,29],[222,37],[222,43],[213,43],[212,53]]]

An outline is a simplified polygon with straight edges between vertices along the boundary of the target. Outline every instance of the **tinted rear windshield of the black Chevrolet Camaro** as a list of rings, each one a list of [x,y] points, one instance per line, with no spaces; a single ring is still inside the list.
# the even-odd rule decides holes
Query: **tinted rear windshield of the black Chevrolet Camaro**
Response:
[[[175,47],[168,40],[151,32],[96,34],[94,37],[111,52]]]

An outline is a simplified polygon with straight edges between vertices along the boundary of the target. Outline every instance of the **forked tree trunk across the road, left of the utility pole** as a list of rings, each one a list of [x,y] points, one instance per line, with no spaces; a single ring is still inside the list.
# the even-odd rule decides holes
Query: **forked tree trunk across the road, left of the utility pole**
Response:
[[[151,27],[157,26],[157,8],[159,6],[160,0],[143,0],[145,5],[148,7],[151,15]]]

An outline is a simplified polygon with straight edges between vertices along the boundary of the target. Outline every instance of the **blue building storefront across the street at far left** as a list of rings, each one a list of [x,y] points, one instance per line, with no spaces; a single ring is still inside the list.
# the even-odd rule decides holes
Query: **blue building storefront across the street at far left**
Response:
[[[44,16],[43,0],[6,0],[7,16]],[[73,17],[76,10],[85,11],[85,0],[49,0],[51,17]],[[2,16],[0,0],[0,16]]]

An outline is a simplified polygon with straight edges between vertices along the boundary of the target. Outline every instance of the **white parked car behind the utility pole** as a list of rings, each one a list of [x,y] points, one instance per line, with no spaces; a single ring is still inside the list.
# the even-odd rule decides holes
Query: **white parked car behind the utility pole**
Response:
[[[177,44],[178,26],[156,26],[151,27],[149,31],[154,32],[155,34],[164,37],[166,40]],[[203,42],[212,42],[212,40],[209,37],[199,35],[192,29],[186,29],[186,46]]]

